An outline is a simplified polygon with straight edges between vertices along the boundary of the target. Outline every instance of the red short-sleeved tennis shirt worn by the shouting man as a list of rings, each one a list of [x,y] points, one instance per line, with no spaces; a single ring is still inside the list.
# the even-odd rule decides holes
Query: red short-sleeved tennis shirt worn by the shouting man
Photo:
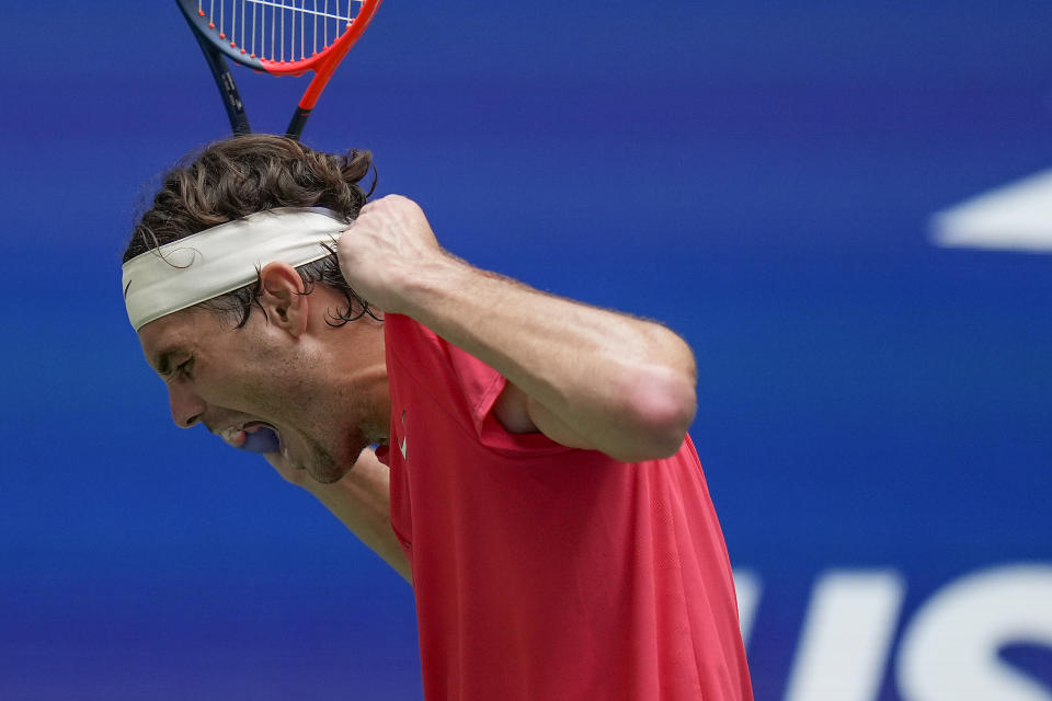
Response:
[[[385,319],[391,525],[428,701],[751,701],[734,583],[687,438],[628,464],[510,434],[504,378]],[[386,453],[386,455],[385,455]]]

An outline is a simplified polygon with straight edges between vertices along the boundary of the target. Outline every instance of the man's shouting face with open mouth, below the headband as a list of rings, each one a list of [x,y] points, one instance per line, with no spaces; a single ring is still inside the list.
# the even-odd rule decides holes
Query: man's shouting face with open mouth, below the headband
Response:
[[[286,476],[299,469],[335,482],[366,446],[386,440],[387,374],[375,322],[309,323],[295,335],[259,310],[237,329],[228,317],[191,308],[146,324],[139,341],[168,386],[176,425],[202,423],[237,448],[248,434],[273,428],[279,449],[266,458]]]

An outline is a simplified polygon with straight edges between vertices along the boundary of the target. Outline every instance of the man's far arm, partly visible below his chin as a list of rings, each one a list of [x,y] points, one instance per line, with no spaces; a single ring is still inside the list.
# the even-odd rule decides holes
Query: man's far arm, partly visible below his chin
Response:
[[[278,455],[267,455],[266,459],[285,480],[313,494],[358,540],[412,584],[409,560],[391,529],[390,471],[371,450],[363,450],[354,469],[333,484],[322,484],[306,471],[289,468]]]

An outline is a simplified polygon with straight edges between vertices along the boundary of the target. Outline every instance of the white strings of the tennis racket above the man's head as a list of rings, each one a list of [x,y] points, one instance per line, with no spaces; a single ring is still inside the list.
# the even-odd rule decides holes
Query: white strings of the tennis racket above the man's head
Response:
[[[197,14],[230,47],[264,61],[301,61],[334,44],[364,0],[198,0]],[[216,5],[219,5],[218,8]],[[270,16],[267,16],[270,15]]]

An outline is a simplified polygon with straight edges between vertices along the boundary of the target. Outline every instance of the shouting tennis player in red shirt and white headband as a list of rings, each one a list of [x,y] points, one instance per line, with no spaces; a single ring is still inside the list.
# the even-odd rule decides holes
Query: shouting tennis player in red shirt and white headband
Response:
[[[430,701],[751,700],[686,344],[454,257],[369,169],[241,136],[165,175],[123,287],[175,423],[412,583]]]

